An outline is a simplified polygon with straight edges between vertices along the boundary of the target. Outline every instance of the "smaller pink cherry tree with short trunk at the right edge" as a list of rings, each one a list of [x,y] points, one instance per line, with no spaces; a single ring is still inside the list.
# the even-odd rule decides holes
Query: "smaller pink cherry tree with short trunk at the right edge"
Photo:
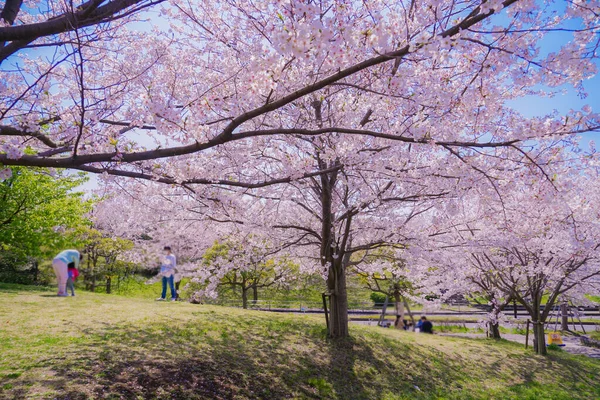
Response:
[[[559,298],[581,298],[600,287],[600,197],[588,184],[598,177],[597,154],[547,150],[537,150],[538,161],[546,159],[551,176],[507,179],[500,197],[463,197],[451,214],[436,216],[429,231],[435,244],[413,251],[413,262],[447,273],[440,287],[460,290],[466,278],[484,284],[496,309],[508,299],[522,304],[539,354],[546,353],[544,324]]]

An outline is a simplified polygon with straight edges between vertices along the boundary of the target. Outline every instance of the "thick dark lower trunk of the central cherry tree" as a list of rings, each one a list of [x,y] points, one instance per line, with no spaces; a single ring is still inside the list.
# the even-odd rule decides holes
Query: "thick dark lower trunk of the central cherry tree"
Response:
[[[329,269],[328,289],[331,294],[331,312],[329,318],[329,336],[341,338],[348,336],[348,296],[346,292],[346,271],[341,262],[334,263]]]

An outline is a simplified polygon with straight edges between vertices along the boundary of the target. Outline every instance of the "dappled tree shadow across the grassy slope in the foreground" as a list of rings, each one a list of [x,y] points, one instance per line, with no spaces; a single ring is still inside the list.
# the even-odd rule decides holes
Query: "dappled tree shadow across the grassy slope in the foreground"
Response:
[[[85,343],[39,360],[32,369],[45,376],[0,376],[0,398],[33,392],[61,400],[487,398],[485,388],[474,392],[474,386],[517,376],[524,382],[495,397],[510,398],[503,395],[538,390],[535,375],[556,361],[495,359],[470,365],[469,375],[465,359],[434,347],[364,332],[332,341],[314,323],[255,315],[234,325],[203,313],[198,323],[105,324],[84,334]],[[581,382],[580,363],[564,366],[565,376]]]

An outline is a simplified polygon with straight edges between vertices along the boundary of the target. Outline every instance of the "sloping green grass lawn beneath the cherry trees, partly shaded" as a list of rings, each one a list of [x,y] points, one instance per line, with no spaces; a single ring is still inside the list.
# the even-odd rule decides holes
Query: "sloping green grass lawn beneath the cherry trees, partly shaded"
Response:
[[[593,399],[600,361],[319,316],[0,284],[2,399]]]

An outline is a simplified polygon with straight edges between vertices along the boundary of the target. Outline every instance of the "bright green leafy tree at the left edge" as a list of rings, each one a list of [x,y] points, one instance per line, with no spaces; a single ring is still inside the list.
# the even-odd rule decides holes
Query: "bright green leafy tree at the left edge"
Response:
[[[42,259],[79,244],[75,232],[89,223],[92,202],[76,189],[86,180],[81,174],[11,168],[10,177],[0,181],[0,279],[25,270],[29,278],[23,283],[35,282]],[[9,269],[13,278],[3,276]]]

